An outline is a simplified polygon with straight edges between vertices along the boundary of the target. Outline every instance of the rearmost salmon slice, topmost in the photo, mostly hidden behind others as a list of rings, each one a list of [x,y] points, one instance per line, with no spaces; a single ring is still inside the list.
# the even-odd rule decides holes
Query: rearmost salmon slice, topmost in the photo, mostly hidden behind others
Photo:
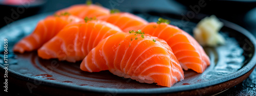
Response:
[[[86,5],[86,4],[79,4],[73,5],[71,7],[61,9],[57,11],[55,14],[60,15],[65,12],[68,12],[74,16],[85,18],[85,17],[99,17],[99,16],[106,16],[110,15],[110,10],[106,9],[101,6],[97,5]]]

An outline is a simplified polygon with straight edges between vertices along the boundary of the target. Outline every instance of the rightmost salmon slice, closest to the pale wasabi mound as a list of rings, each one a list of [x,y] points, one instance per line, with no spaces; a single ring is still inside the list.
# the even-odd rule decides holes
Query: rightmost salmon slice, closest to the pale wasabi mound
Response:
[[[205,54],[203,47],[178,27],[151,22],[141,31],[165,40],[185,70],[193,69],[197,73],[203,73],[207,65],[210,65],[209,57]]]

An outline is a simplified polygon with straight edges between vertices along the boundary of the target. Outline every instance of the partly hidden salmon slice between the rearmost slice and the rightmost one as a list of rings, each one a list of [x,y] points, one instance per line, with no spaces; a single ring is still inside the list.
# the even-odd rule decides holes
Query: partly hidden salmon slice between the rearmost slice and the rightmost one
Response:
[[[126,12],[113,13],[111,15],[101,16],[98,19],[110,22],[124,32],[128,32],[130,30],[139,30],[139,28],[148,23],[143,18]]]

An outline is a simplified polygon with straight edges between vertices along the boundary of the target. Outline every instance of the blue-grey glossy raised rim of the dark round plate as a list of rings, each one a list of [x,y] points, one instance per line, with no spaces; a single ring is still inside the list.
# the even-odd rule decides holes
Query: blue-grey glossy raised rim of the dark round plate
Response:
[[[41,13],[41,14],[37,14],[34,16],[30,16],[30,17],[26,17],[17,21],[14,21],[12,23],[10,23],[9,26],[12,25],[17,25],[20,22],[24,22],[26,20],[29,20],[31,18],[36,18],[39,16],[48,16],[49,14],[52,14],[53,12],[49,12],[49,13]],[[117,88],[100,88],[100,87],[93,87],[93,86],[78,86],[78,85],[72,85],[72,84],[63,84],[60,82],[52,82],[49,80],[43,80],[43,79],[38,79],[38,78],[33,78],[30,76],[25,76],[23,74],[17,73],[14,70],[11,70],[8,68],[9,74],[17,79],[20,80],[25,80],[27,82],[33,82],[34,80],[37,81],[41,81],[41,84],[47,85],[47,86],[52,86],[52,87],[61,87],[61,88],[66,88],[66,89],[73,89],[73,90],[81,90],[81,91],[92,91],[92,92],[103,92],[103,93],[171,93],[171,92],[179,92],[179,91],[187,91],[187,90],[194,90],[194,89],[199,89],[199,88],[204,88],[204,87],[208,87],[208,86],[213,86],[216,84],[221,84],[224,83],[226,81],[232,80],[232,79],[236,79],[239,78],[241,76],[243,76],[244,74],[248,73],[248,71],[250,71],[256,64],[256,39],[255,37],[248,32],[246,29],[236,25],[235,23],[232,23],[230,21],[221,19],[221,21],[224,23],[224,27],[233,29],[238,31],[239,33],[245,35],[253,44],[254,46],[254,53],[253,56],[251,58],[251,60],[246,63],[245,66],[243,66],[242,68],[240,68],[239,70],[235,71],[234,73],[231,73],[227,76],[223,76],[211,81],[206,81],[206,82],[202,82],[199,85],[195,84],[195,85],[183,85],[183,86],[176,86],[175,89],[170,90],[169,87],[163,87],[163,88],[148,88],[148,89],[117,89]],[[2,30],[8,29],[10,27],[8,26],[4,26],[3,28],[0,29],[0,32]],[[1,67],[1,71],[5,71],[4,65],[0,64]],[[182,88],[182,90],[180,90]]]

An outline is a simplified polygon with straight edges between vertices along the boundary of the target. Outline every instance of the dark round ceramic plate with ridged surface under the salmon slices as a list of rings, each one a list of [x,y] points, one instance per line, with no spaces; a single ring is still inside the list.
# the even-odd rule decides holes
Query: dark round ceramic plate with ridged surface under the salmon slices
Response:
[[[154,13],[153,13],[154,14]],[[200,16],[183,21],[181,16],[150,13],[137,14],[148,21],[157,21],[158,17],[171,20],[172,25],[192,33]],[[57,59],[44,60],[36,52],[18,54],[12,52],[12,45],[20,38],[30,34],[38,20],[49,14],[40,14],[11,23],[0,30],[0,51],[4,49],[4,39],[8,39],[9,83],[21,87],[25,91],[36,94],[103,94],[116,95],[127,93],[139,94],[179,94],[200,95],[214,94],[246,79],[255,66],[254,37],[245,29],[231,22],[222,20],[225,26],[221,34],[226,44],[218,47],[204,47],[210,57],[211,65],[203,74],[192,70],[184,71],[185,79],[172,87],[161,87],[156,84],[139,83],[112,75],[109,71],[87,73],[79,69],[80,62],[70,63]],[[202,16],[203,17],[203,16]],[[1,42],[1,41],[0,41]],[[4,74],[2,52],[0,70]],[[1,77],[3,78],[3,77]]]

